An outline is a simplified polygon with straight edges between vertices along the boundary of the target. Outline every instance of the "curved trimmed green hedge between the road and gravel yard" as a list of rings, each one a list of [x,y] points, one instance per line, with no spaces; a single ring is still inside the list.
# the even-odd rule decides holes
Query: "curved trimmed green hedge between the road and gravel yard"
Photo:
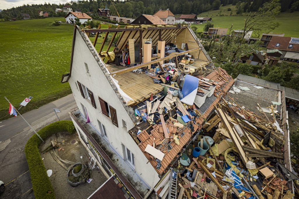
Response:
[[[72,121],[62,120],[54,122],[40,129],[37,133],[45,140],[55,133],[68,131],[73,134],[75,127]],[[36,199],[53,198],[55,199],[54,190],[51,181],[47,175],[47,170],[44,166],[42,158],[39,154],[39,145],[42,141],[36,134],[27,141],[25,145],[25,156],[28,162],[33,192]]]

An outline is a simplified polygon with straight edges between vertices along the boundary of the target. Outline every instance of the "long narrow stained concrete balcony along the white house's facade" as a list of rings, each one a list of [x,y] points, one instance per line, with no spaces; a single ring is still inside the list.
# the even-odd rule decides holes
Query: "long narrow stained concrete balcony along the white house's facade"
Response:
[[[82,126],[81,128],[84,128],[90,134],[90,136],[93,137],[100,148],[105,151],[106,155],[110,158],[110,161],[114,163],[118,170],[123,174],[123,176],[127,178],[127,180],[139,192],[139,194],[141,194],[142,196],[147,194],[148,188],[138,176],[138,174],[129,166],[128,163],[123,160],[122,157],[117,154],[115,149],[113,149],[112,146],[104,139],[104,137],[95,130],[94,126],[92,126],[91,123],[85,123],[86,119],[80,114],[79,110],[77,109],[75,111],[72,111],[72,115],[76,117],[76,119]],[[109,134],[109,132],[107,132],[107,134]]]

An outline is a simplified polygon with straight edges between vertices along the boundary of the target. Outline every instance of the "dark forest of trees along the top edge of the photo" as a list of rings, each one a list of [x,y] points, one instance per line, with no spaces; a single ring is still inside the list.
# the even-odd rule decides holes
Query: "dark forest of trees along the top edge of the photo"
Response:
[[[200,14],[208,10],[218,10],[220,6],[228,4],[237,5],[237,12],[257,11],[262,4],[271,0],[114,0],[114,4],[120,16],[138,17],[141,14],[154,14],[157,10],[169,8],[174,14]],[[299,10],[299,0],[280,0],[281,12]],[[116,11],[108,0],[88,0],[88,1],[70,1],[69,4],[73,10],[80,9],[82,12],[96,12],[98,8],[104,8],[107,4],[112,15]],[[56,8],[62,8],[63,4],[32,4],[13,7],[3,10],[0,13],[0,19],[6,21],[17,18],[20,13],[28,13],[31,18],[39,18],[37,10],[47,11],[49,16],[65,16],[65,13],[56,14]],[[238,13],[237,13],[238,14]]]

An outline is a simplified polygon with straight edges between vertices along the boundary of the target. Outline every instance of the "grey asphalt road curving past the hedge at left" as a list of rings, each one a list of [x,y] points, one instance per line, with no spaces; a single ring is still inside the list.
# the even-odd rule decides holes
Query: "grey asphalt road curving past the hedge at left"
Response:
[[[22,116],[38,131],[57,120],[53,108],[63,111],[58,116],[61,115],[62,119],[65,119],[68,116],[66,109],[75,106],[74,96],[70,94]],[[34,133],[28,129],[27,123],[20,116],[0,122],[0,180],[6,187],[0,198],[34,198],[24,154],[25,144]]]

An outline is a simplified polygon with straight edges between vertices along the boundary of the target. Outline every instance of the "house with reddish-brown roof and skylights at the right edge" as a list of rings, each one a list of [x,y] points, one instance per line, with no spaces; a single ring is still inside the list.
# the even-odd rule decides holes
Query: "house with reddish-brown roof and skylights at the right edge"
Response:
[[[299,60],[299,38],[272,36],[267,49],[277,49],[283,54],[281,59],[296,62]]]

